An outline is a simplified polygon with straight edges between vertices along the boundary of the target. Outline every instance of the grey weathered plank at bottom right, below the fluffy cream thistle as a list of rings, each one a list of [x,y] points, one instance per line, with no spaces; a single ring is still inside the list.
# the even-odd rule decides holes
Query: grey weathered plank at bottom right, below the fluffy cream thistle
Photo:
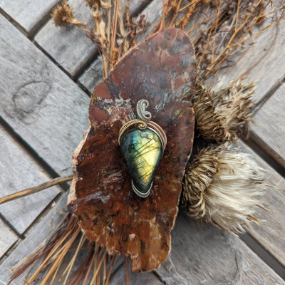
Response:
[[[239,238],[181,215],[170,256],[156,273],[166,284],[285,284]]]

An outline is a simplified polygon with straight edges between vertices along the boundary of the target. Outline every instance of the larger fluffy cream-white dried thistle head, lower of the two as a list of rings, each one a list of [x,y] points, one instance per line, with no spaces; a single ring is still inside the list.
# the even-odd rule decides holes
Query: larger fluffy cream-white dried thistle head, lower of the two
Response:
[[[185,172],[182,202],[191,217],[228,232],[244,232],[254,217],[264,186],[264,170],[233,145],[200,150]]]

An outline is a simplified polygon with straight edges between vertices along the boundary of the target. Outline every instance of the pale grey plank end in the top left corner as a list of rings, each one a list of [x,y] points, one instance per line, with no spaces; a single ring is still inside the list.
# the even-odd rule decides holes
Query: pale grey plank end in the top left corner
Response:
[[[46,21],[49,12],[56,3],[58,0],[0,0],[0,7],[31,34],[43,21]]]

